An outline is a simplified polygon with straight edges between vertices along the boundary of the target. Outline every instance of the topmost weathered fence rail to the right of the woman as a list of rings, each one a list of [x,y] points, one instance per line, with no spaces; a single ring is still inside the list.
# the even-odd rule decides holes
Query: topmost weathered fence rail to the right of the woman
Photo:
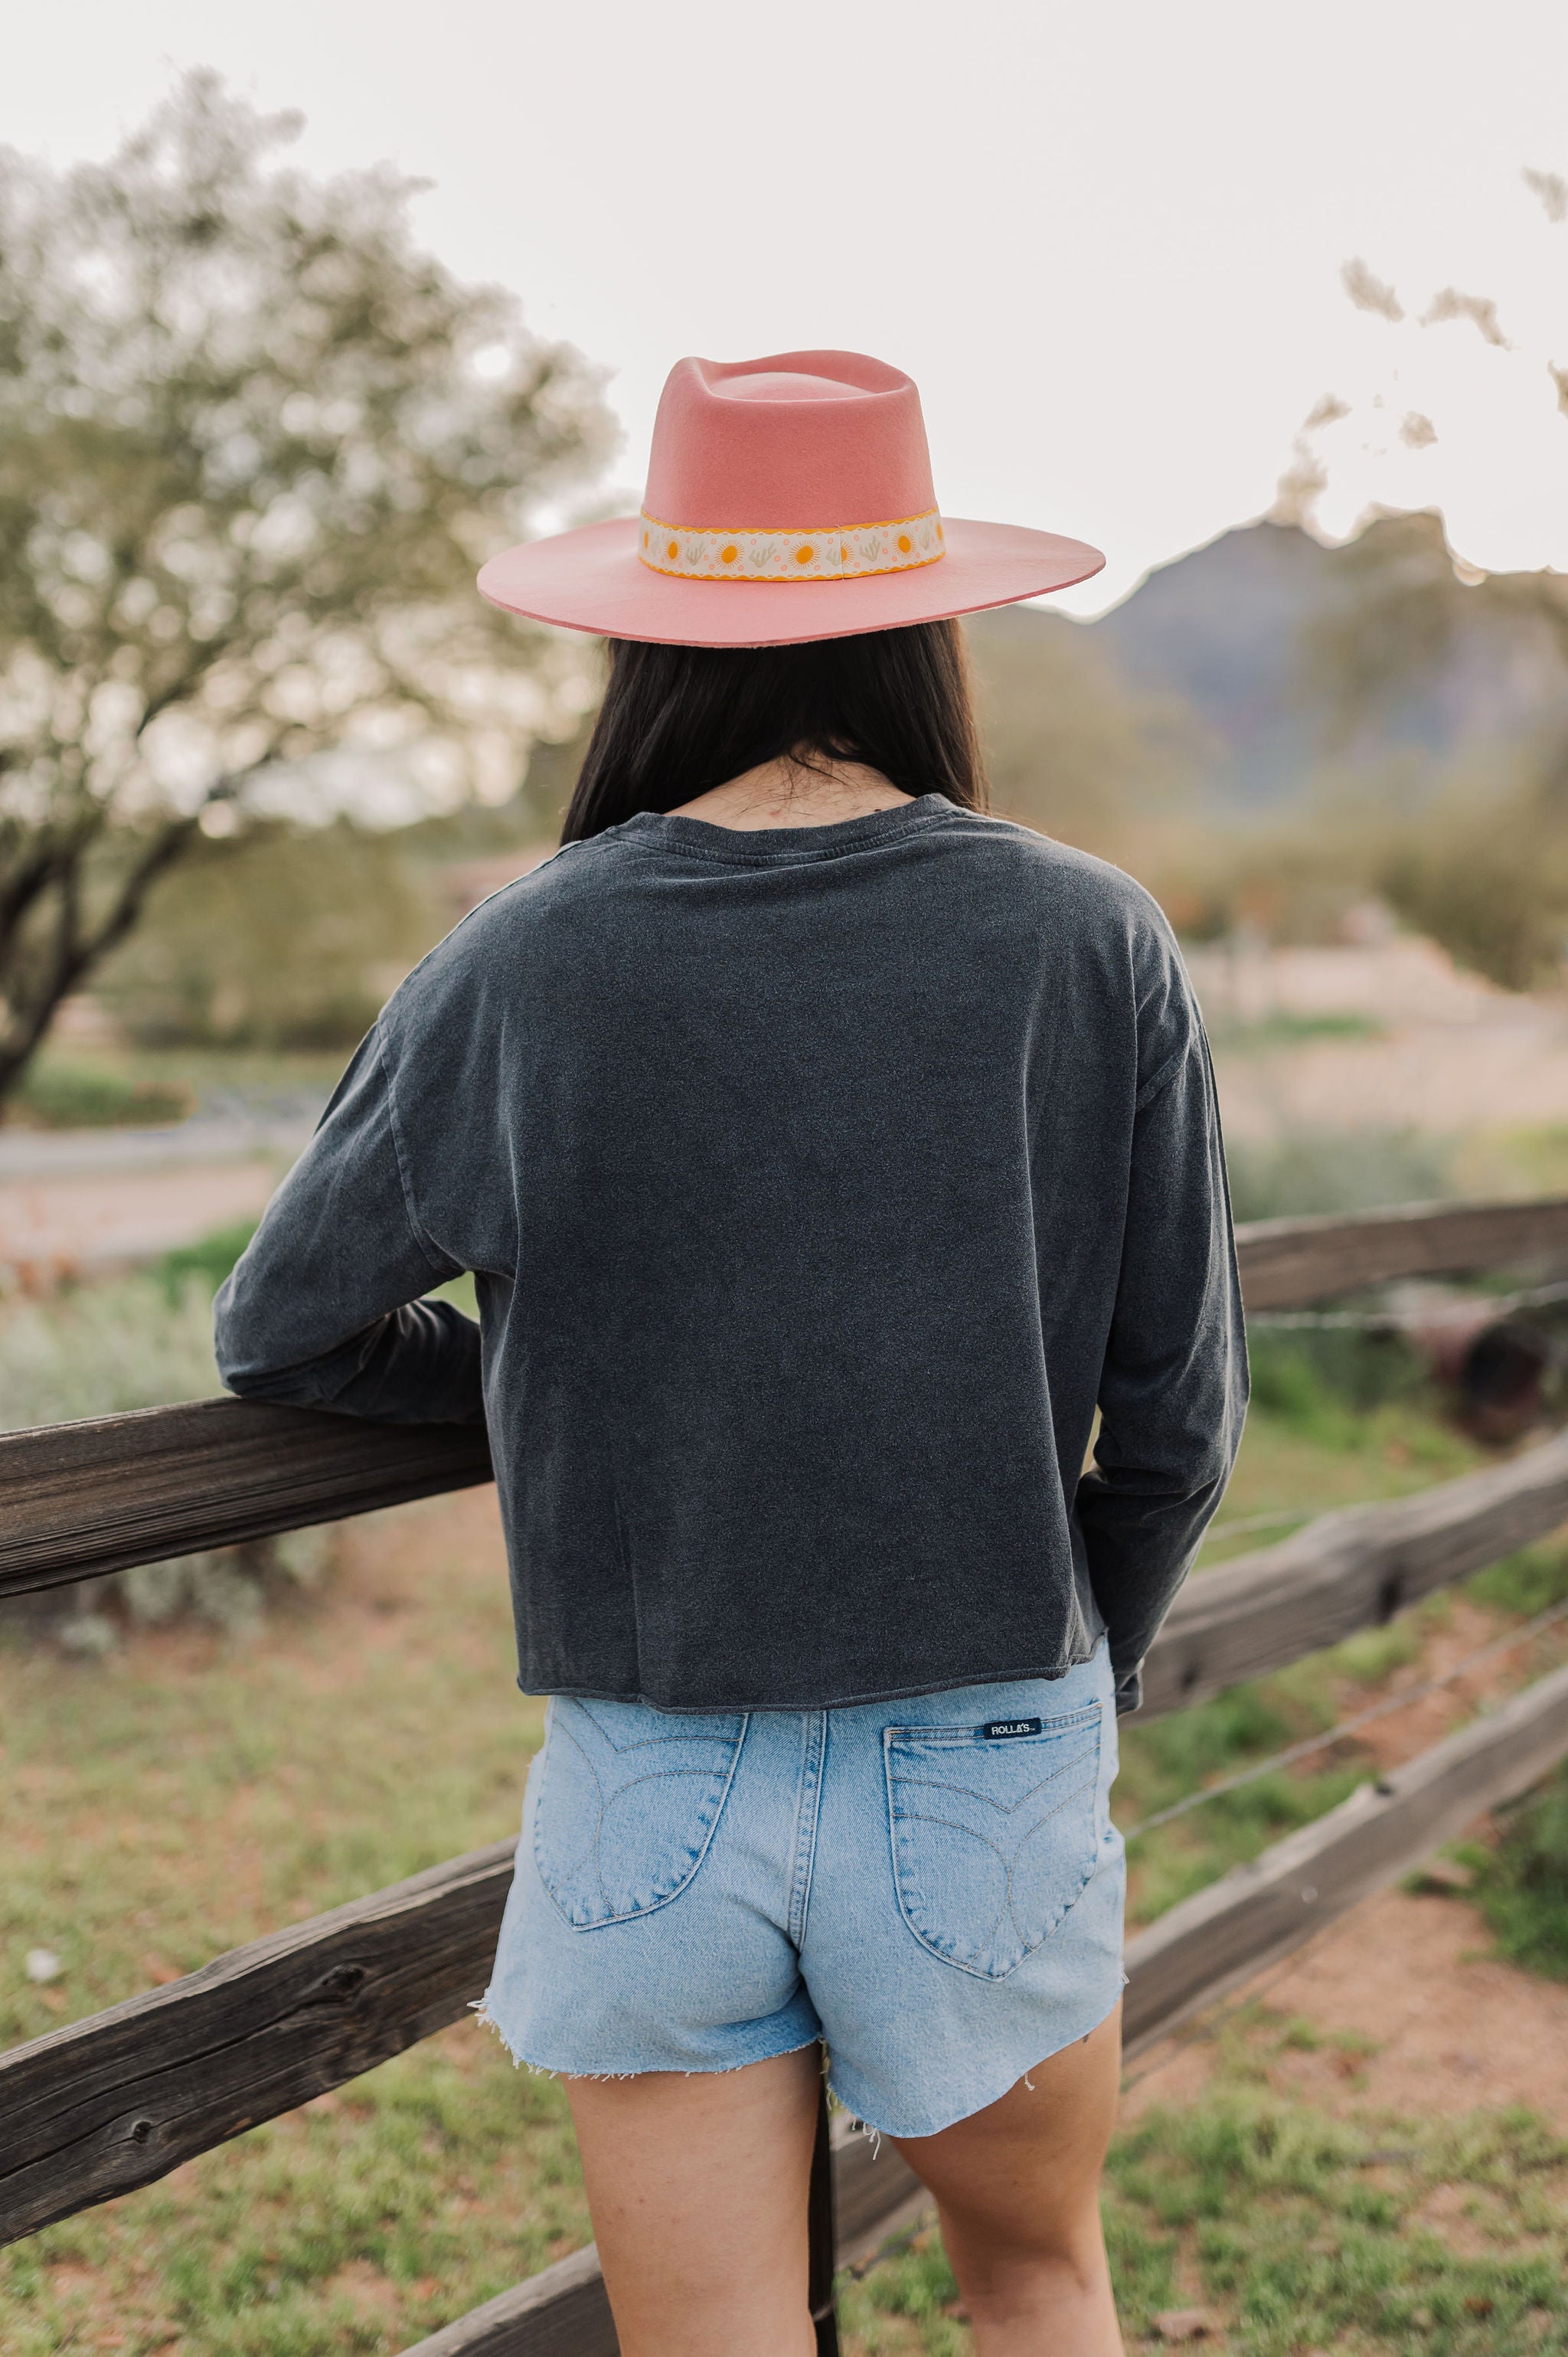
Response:
[[[1405,1202],[1349,1219],[1257,1219],[1236,1230],[1250,1310],[1294,1310],[1363,1285],[1509,1268],[1568,1252],[1568,1197]]]

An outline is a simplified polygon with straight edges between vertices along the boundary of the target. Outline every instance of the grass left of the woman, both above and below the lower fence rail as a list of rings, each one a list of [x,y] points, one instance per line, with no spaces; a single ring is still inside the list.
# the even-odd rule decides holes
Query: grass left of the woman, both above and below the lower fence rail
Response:
[[[0,1645],[0,2046],[514,1831],[512,1671],[488,1492],[349,1525],[328,1600],[248,1643]],[[396,2350],[585,2239],[559,2088],[462,2025],[2,2253],[0,2348]]]

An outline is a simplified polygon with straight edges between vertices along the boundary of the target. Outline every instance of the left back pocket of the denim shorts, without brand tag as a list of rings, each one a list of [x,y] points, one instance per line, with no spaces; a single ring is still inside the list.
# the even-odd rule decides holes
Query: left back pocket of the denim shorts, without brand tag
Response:
[[[533,1855],[573,1930],[679,1897],[707,1855],[743,1739],[745,1711],[554,1697]]]

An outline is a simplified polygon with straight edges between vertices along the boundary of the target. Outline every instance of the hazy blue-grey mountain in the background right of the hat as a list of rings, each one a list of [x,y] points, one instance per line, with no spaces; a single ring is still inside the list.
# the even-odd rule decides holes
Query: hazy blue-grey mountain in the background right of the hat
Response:
[[[1160,566],[1099,622],[1042,606],[974,615],[981,676],[1004,665],[1016,695],[1030,651],[1061,676],[1078,643],[1101,693],[1120,688],[1129,707],[1158,712],[1167,735],[1186,721],[1207,792],[1236,808],[1290,804],[1325,766],[1375,773],[1403,754],[1436,773],[1540,726],[1563,700],[1561,669],[1533,641],[1476,627],[1419,695],[1351,742],[1330,742],[1332,698],[1313,676],[1311,632],[1353,608],[1379,530],[1375,521],[1361,542],[1325,547],[1294,523],[1247,523]]]

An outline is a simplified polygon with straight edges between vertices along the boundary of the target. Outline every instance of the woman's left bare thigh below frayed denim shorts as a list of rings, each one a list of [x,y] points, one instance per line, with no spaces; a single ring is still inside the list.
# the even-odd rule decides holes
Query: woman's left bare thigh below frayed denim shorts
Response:
[[[821,2053],[568,2079],[620,2357],[811,2357]]]

